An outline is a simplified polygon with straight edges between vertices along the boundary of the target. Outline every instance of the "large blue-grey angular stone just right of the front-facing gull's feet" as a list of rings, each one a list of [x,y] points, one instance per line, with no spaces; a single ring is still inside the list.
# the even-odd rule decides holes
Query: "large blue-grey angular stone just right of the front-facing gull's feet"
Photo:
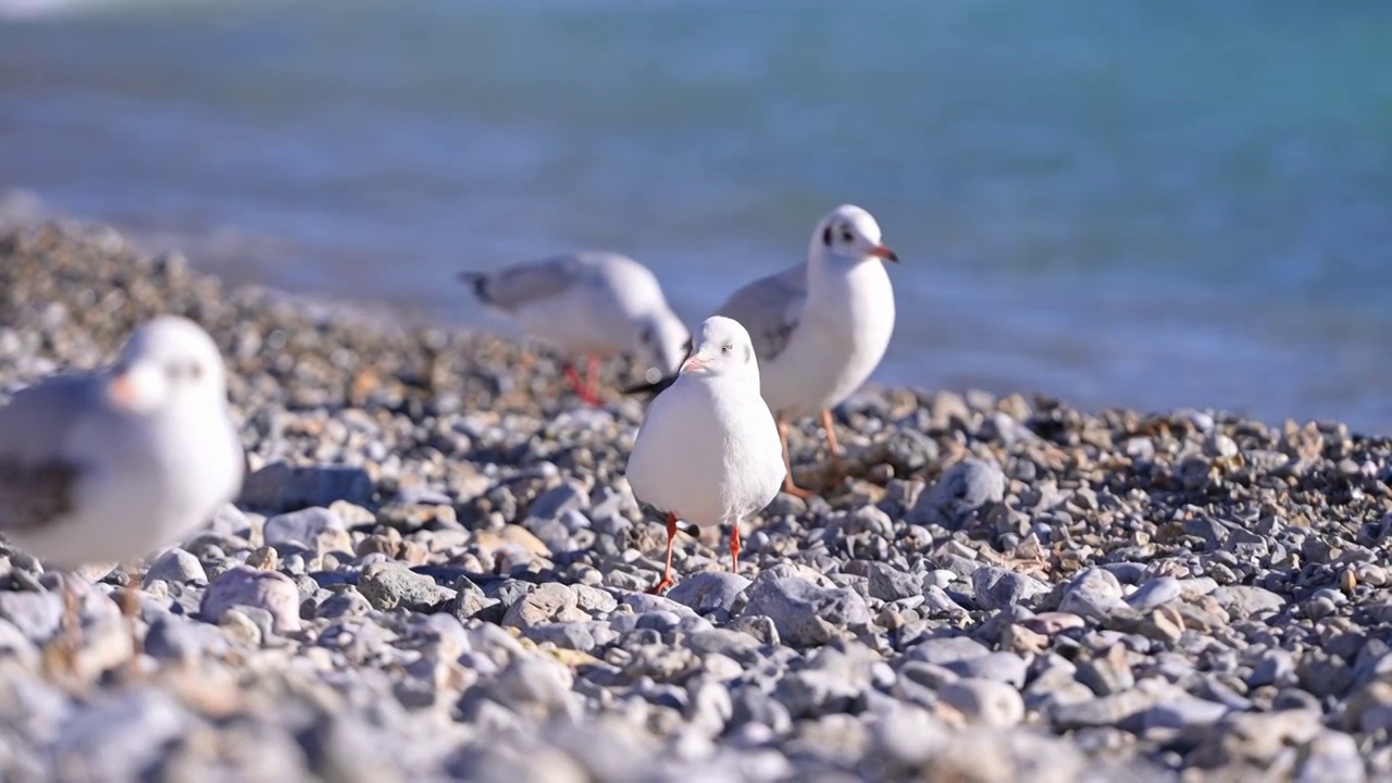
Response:
[[[774,621],[778,637],[793,646],[814,646],[870,624],[864,599],[845,588],[818,588],[796,577],[760,578],[749,587],[743,614]]]

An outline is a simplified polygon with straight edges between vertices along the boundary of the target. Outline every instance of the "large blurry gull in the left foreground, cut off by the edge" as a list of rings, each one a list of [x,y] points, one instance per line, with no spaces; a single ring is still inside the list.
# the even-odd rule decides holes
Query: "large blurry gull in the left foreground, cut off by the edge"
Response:
[[[67,570],[139,559],[203,525],[245,470],[217,346],[160,316],[114,366],[50,376],[0,407],[0,534]],[[63,592],[71,644],[77,603]],[[134,616],[134,585],[121,609]]]

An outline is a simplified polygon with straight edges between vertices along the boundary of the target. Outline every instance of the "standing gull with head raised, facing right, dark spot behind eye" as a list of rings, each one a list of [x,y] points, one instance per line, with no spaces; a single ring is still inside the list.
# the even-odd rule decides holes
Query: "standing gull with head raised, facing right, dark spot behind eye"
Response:
[[[763,397],[778,425],[784,492],[813,493],[792,478],[788,426],[821,417],[832,472],[844,476],[831,408],[864,383],[894,334],[894,287],[884,262],[899,256],[881,244],[880,224],[864,209],[841,205],[817,222],[807,262],[760,277],[735,291],[715,313],[749,329],[761,362]],[[625,392],[661,392],[672,378]]]

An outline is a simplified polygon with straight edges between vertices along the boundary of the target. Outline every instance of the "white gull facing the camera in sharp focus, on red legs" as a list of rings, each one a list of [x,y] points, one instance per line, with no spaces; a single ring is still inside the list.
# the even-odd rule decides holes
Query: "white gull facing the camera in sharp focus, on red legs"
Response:
[[[759,396],[759,361],[738,320],[711,316],[700,347],[649,405],[628,457],[633,496],[667,511],[667,564],[649,592],[672,581],[677,518],[728,524],[729,570],[739,570],[739,520],[778,495],[786,471],[768,405]]]

